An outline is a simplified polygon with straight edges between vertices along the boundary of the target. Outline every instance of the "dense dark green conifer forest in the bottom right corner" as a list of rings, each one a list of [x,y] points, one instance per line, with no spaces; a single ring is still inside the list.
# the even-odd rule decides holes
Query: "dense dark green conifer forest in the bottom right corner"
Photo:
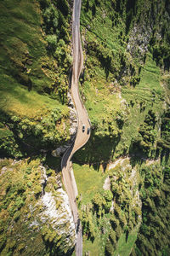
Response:
[[[132,255],[169,253],[169,164],[140,166],[142,224]],[[166,226],[166,228],[165,228]]]

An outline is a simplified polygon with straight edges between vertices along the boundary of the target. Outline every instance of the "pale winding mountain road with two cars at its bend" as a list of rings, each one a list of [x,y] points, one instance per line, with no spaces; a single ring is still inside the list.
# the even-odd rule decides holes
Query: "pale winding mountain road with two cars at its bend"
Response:
[[[78,89],[78,80],[83,66],[82,43],[80,36],[80,12],[82,0],[74,0],[73,14],[72,14],[72,44],[73,44],[73,69],[71,78],[71,96],[77,109],[78,129],[75,142],[68,148],[62,158],[61,168],[63,175],[63,183],[69,201],[71,204],[71,212],[73,214],[74,222],[77,228],[77,245],[76,255],[82,256],[82,225],[78,217],[77,210],[77,183],[73,172],[71,171],[71,157],[82,146],[88,142],[90,132],[88,134],[88,127],[90,127],[88,113],[84,108]],[[82,131],[82,125],[85,125],[85,131]]]

